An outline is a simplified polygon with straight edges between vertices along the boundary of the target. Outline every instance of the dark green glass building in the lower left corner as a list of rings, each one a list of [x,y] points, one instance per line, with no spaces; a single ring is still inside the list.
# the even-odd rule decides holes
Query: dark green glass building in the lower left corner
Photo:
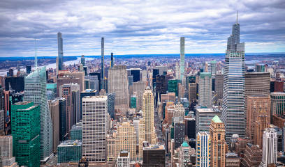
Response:
[[[12,105],[13,156],[19,166],[40,166],[40,106],[34,102]]]

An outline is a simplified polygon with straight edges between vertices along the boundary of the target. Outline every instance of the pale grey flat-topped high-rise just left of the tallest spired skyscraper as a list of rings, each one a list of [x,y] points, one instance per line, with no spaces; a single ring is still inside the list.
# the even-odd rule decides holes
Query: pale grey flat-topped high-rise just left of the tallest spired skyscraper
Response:
[[[201,72],[199,77],[199,104],[212,107],[212,77],[210,72]]]

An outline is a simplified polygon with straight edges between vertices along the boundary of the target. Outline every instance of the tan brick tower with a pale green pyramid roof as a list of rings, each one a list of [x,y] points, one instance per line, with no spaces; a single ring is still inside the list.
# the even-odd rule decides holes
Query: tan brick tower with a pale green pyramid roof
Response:
[[[226,166],[226,141],[224,123],[219,116],[214,116],[210,125],[211,166]]]

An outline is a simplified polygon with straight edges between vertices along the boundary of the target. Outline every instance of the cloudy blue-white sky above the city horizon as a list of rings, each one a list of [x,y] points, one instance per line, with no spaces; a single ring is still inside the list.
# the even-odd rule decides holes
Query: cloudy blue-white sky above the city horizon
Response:
[[[284,0],[1,0],[0,56],[224,53],[238,10],[246,52],[285,52]]]

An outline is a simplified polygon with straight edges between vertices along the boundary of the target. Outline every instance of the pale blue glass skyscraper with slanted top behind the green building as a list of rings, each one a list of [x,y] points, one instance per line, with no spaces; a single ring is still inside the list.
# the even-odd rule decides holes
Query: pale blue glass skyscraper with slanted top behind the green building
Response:
[[[47,106],[45,67],[38,67],[24,79],[24,101],[40,106],[41,117],[41,161],[52,154],[52,118]]]

